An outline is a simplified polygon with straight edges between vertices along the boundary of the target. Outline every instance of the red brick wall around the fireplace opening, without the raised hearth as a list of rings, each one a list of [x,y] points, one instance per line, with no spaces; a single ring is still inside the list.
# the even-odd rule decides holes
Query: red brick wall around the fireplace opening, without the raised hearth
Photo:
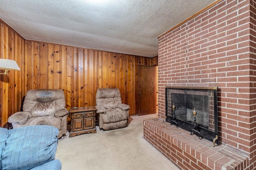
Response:
[[[165,118],[166,86],[218,86],[220,141],[246,152],[251,163],[256,162],[255,6],[255,0],[222,0],[159,38],[158,49],[158,117]]]

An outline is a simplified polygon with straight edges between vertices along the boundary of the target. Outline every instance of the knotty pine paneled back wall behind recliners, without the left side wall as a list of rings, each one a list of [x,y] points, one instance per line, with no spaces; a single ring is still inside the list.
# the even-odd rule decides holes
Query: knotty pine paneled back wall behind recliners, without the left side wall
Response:
[[[93,106],[98,88],[117,87],[130,115],[138,113],[138,65],[156,58],[139,57],[26,40],[25,91],[64,89],[66,108]]]

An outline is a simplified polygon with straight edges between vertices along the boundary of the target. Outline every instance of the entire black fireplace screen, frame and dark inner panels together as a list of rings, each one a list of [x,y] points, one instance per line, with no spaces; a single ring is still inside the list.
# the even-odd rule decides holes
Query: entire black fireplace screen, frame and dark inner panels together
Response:
[[[218,144],[217,87],[166,87],[165,90],[166,121],[191,134],[197,131],[201,138]]]

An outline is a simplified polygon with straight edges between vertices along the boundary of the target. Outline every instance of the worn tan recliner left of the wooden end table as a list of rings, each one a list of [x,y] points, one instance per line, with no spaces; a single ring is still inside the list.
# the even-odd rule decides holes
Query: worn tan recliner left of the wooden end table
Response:
[[[13,128],[31,125],[51,125],[59,129],[58,138],[67,131],[68,110],[63,90],[28,90],[20,112],[8,118]]]

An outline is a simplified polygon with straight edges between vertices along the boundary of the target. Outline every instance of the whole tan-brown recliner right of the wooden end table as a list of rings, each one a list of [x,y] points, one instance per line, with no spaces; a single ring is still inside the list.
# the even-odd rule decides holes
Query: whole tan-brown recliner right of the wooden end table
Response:
[[[122,103],[118,88],[97,89],[96,108],[100,129],[127,127],[130,106]]]

